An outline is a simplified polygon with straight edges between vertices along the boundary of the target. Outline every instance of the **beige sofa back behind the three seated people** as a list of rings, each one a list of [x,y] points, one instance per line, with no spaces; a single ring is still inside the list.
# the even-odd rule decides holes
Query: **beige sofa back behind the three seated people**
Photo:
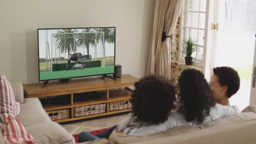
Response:
[[[94,142],[87,142],[86,144],[88,143],[252,144],[256,143],[256,106],[248,106],[242,113],[219,118],[197,127],[179,127],[150,136],[124,136],[115,134],[110,137],[109,141],[100,139]]]

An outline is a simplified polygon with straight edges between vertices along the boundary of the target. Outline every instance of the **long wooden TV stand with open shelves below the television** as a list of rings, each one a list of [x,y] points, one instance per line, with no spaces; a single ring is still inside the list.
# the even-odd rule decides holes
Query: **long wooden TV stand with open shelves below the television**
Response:
[[[109,111],[109,103],[113,101],[127,100],[130,99],[131,90],[127,87],[133,86],[138,81],[136,77],[131,75],[122,75],[117,80],[112,80],[107,77],[101,79],[100,77],[90,79],[79,79],[72,80],[67,83],[61,82],[49,82],[47,86],[41,88],[43,83],[31,83],[24,85],[24,93],[26,98],[34,97],[52,97],[57,95],[70,95],[70,104],[53,104],[43,105],[45,111],[70,109],[69,118],[57,119],[55,122],[67,122],[78,119],[85,119],[91,117],[98,117],[104,115],[112,115],[114,113],[127,112],[131,109]],[[122,88],[122,89],[117,89]],[[101,91],[101,96],[95,99],[74,101],[74,94],[83,92]],[[104,113],[74,117],[74,107],[95,105],[95,104],[106,104],[106,111]]]

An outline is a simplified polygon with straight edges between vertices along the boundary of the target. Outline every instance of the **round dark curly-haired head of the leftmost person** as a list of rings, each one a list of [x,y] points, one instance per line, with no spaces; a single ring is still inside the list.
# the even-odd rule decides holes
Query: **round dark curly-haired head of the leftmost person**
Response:
[[[171,82],[162,76],[150,75],[136,82],[135,88],[131,96],[133,115],[143,122],[164,122],[176,101]]]

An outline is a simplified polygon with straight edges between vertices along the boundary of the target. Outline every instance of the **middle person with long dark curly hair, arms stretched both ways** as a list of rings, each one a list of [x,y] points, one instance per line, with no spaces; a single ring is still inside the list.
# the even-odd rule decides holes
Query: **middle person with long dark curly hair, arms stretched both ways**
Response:
[[[184,70],[178,79],[178,88],[180,107],[177,112],[170,113],[164,123],[132,129],[130,135],[152,135],[168,129],[195,126],[240,113],[237,107],[216,104],[211,88],[199,70]],[[154,131],[154,133],[151,133],[148,129]]]

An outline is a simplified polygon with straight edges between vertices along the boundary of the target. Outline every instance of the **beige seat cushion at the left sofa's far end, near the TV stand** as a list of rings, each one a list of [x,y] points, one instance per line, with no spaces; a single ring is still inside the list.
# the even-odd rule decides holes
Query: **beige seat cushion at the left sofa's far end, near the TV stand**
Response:
[[[51,122],[51,118],[43,109],[38,98],[26,98],[25,103],[21,104],[20,107],[21,111],[17,118],[24,127],[43,122]]]

